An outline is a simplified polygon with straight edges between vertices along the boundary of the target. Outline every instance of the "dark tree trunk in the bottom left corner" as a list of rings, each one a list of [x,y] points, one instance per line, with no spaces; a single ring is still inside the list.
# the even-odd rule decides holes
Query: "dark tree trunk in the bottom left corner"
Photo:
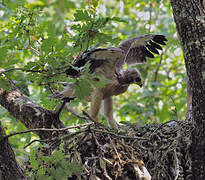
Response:
[[[5,132],[0,123],[0,139],[5,136]],[[15,159],[14,152],[8,139],[0,140],[0,180],[23,180],[26,179],[22,169]]]

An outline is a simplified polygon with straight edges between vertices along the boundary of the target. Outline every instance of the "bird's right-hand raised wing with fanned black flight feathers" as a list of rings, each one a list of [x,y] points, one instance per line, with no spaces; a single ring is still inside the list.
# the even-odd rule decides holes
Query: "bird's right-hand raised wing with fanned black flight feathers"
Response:
[[[146,57],[154,58],[153,53],[159,54],[158,50],[162,50],[160,45],[165,45],[165,41],[167,39],[163,35],[146,34],[121,42],[118,47],[124,51],[125,58],[118,66],[123,66],[124,63],[145,63]]]

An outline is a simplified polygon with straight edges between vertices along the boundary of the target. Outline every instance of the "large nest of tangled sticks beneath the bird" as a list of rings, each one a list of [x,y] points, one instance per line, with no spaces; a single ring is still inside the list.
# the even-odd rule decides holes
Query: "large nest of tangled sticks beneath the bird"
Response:
[[[64,138],[64,149],[83,173],[69,179],[183,179],[190,167],[184,149],[189,148],[191,129],[187,121],[123,125],[118,131],[96,122],[79,126]]]

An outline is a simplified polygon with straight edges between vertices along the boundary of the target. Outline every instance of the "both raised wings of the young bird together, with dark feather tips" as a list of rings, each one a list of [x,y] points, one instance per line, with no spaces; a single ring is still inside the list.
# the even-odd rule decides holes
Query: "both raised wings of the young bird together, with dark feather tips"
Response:
[[[163,35],[143,35],[123,41],[118,48],[98,48],[84,52],[71,67],[66,70],[70,77],[80,76],[80,69],[90,63],[89,72],[101,75],[106,80],[116,80],[115,73],[120,76],[125,63],[145,63],[146,58],[154,58],[159,54],[161,45],[167,39]],[[77,67],[77,69],[75,68]]]

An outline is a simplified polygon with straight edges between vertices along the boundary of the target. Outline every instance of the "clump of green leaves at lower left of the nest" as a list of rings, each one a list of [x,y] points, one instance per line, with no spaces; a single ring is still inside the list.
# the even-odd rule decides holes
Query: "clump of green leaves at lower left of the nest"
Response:
[[[51,156],[44,156],[31,151],[30,166],[32,171],[28,173],[32,179],[62,179],[66,180],[72,175],[80,176],[82,173],[81,166],[73,161],[69,162],[68,155],[62,150],[53,151]]]

